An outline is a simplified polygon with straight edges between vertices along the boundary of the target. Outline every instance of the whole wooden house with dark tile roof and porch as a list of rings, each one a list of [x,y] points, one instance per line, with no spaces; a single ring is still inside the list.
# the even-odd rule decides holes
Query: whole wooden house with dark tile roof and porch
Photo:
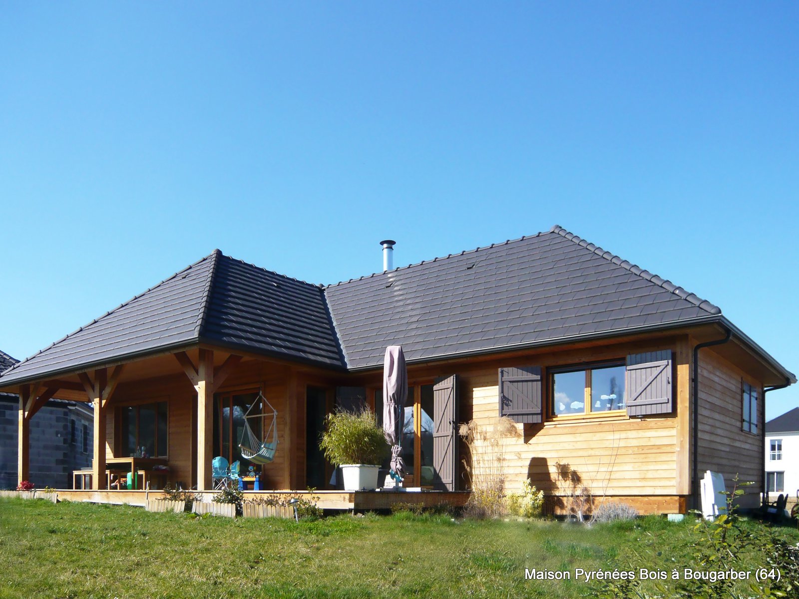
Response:
[[[467,466],[486,460],[459,422],[504,415],[507,490],[530,478],[555,510],[586,486],[685,512],[705,470],[756,482],[741,498],[756,506],[765,392],[796,382],[714,304],[555,226],[328,286],[216,250],[18,363],[0,390],[22,394],[24,422],[55,393],[93,403],[97,490],[106,462],[141,446],[173,482],[209,490],[213,456],[240,458],[262,393],[280,444],[261,489],[324,489],[324,415],[353,397],[380,406],[398,344],[406,486],[467,490]]]

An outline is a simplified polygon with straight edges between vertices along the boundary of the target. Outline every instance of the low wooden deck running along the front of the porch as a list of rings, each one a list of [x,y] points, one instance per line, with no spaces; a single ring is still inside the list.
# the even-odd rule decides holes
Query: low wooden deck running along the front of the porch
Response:
[[[109,504],[128,504],[130,506],[145,506],[148,499],[163,498],[159,490],[57,490],[58,501],[64,502],[91,502]],[[210,502],[213,492],[197,493],[195,496],[202,501]],[[244,491],[244,499],[266,498],[270,495],[299,495],[310,498],[308,491]],[[466,491],[315,491],[316,504],[323,510],[388,510],[397,503],[412,503],[424,506],[463,506],[469,497]]]

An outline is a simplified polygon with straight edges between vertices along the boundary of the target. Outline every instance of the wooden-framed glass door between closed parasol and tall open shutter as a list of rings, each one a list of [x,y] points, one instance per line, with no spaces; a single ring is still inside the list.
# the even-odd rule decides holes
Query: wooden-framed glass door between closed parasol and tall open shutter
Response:
[[[374,391],[373,397],[377,422],[383,426],[383,391]],[[433,432],[433,385],[408,385],[402,435],[403,486],[433,486]]]

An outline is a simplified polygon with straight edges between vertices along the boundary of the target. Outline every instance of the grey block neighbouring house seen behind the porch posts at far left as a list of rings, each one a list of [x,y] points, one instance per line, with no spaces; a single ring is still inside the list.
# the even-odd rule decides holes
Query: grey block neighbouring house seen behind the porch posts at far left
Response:
[[[18,360],[0,351],[0,371]],[[30,478],[42,488],[71,485],[72,471],[92,463],[93,413],[85,403],[50,399],[30,423]],[[0,393],[0,489],[18,484],[19,398]]]

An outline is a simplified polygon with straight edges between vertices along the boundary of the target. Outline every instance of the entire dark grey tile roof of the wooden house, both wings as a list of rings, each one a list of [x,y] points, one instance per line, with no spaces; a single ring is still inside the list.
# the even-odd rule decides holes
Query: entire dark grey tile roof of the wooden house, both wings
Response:
[[[396,343],[415,362],[720,319],[714,304],[557,225],[327,287],[215,250],[0,384],[199,342],[357,370],[379,367]]]

